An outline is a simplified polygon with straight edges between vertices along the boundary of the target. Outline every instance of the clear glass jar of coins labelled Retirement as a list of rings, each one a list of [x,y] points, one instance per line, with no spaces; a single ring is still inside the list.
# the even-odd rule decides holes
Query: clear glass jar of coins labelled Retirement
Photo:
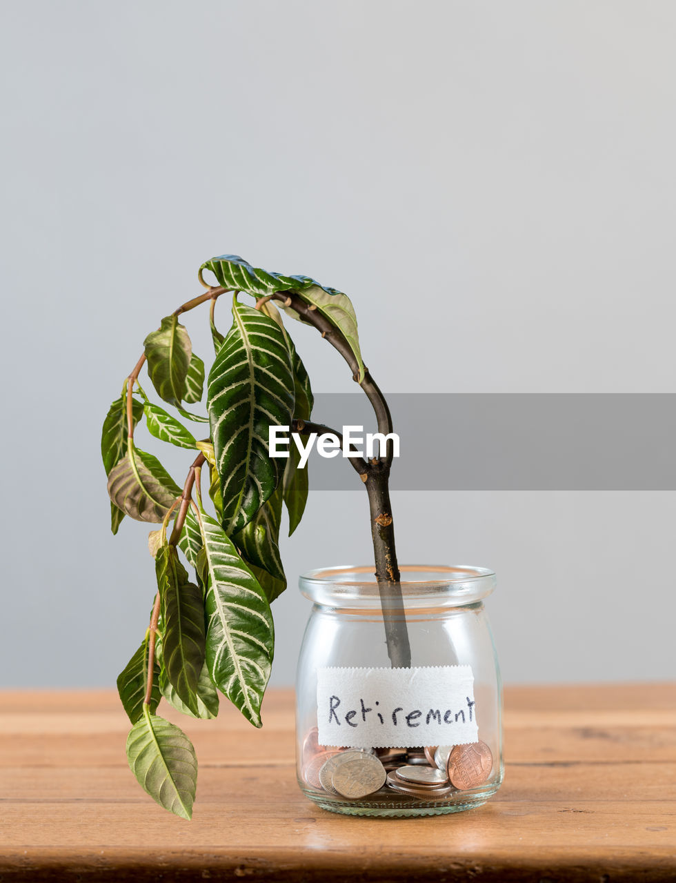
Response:
[[[457,812],[503,779],[502,686],[484,611],[495,574],[400,570],[384,597],[372,566],[300,577],[313,607],[297,669],[297,777],[326,810]]]

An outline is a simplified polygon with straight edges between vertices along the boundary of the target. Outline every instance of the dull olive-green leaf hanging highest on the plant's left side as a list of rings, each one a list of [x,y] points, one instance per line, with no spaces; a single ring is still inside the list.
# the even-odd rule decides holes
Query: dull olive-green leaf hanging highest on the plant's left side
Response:
[[[176,315],[165,316],[160,328],[144,341],[148,376],[157,395],[169,404],[181,404],[186,393],[192,343]]]

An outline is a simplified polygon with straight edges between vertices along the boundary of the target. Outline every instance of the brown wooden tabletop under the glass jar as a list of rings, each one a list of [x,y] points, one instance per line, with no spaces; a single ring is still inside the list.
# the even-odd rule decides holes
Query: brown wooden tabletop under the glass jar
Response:
[[[226,705],[166,715],[199,758],[186,822],[131,776],[113,692],[0,693],[0,880],[676,880],[676,684],[507,688],[499,794],[426,819],[319,810],[292,694],[261,730]]]

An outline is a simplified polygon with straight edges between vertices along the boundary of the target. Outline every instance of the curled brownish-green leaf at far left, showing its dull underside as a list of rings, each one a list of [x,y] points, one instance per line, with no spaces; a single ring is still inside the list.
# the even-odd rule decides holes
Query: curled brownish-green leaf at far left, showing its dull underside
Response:
[[[137,521],[160,522],[181,495],[181,488],[157,457],[131,444],[126,457],[110,471],[108,493],[125,515]]]

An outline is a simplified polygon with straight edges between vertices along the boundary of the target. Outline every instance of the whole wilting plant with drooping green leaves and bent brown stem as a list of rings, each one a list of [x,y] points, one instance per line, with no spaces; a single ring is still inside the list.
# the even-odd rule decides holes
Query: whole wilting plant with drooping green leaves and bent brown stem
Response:
[[[214,274],[217,285],[205,282],[205,271]],[[334,433],[342,441],[339,433],[311,422],[310,378],[277,307],[312,325],[334,346],[371,401],[379,433],[392,433],[385,398],[364,366],[357,318],[346,295],[307,276],[253,268],[234,255],[207,260],[199,268],[199,281],[207,291],[179,306],[146,336],[143,355],[110,405],[101,435],[113,533],[125,515],[161,525],[148,538],[157,577],[150,623],[117,678],[132,724],[127,758],[147,793],[185,819],[192,817],[197,759],[184,732],[156,713],[161,698],[192,717],[212,718],[221,692],[254,726],[261,725],[274,651],[270,604],[286,588],[278,546],[282,506],[289,513],[290,535],[308,494],[307,465],[300,466],[293,445],[288,459],[269,456],[269,426],[290,426],[300,434]],[[232,325],[223,336],[214,306],[228,293]],[[242,303],[242,295],[253,303]],[[210,306],[215,350],[207,378],[208,416],[185,408],[203,398],[205,366],[178,321],[202,304]],[[197,439],[173,413],[150,400],[139,382],[144,365],[162,402],[179,417],[208,424],[207,437]],[[136,446],[134,429],[143,419],[162,442],[198,451],[183,490],[156,457]],[[401,609],[388,492],[391,442],[379,454],[369,461],[353,454],[349,463],[369,498],[385,612]],[[210,502],[202,495],[203,469]],[[392,665],[408,667],[405,621],[401,615],[385,615],[384,622]]]

